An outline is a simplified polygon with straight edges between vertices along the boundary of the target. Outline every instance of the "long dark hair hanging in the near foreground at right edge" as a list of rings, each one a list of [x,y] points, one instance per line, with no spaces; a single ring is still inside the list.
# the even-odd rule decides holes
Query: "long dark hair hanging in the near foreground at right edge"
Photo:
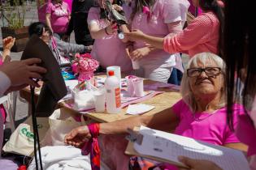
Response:
[[[251,1],[226,0],[223,59],[227,63],[228,126],[233,130],[232,104],[239,99],[237,95],[238,77],[245,68],[245,88],[242,101],[245,113],[251,109],[256,94],[256,26]],[[253,121],[251,121],[252,123]]]

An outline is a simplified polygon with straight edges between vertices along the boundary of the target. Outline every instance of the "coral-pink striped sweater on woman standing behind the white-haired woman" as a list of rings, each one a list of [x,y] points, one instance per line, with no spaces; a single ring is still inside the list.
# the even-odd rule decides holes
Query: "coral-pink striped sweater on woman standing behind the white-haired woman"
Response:
[[[213,12],[202,13],[183,32],[173,37],[165,37],[163,48],[168,53],[218,53],[219,19]]]

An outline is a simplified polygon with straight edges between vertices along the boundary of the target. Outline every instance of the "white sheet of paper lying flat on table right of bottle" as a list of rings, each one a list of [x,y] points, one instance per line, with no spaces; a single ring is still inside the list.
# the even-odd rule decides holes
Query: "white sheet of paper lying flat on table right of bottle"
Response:
[[[136,115],[149,112],[155,107],[149,104],[129,104],[126,113]]]

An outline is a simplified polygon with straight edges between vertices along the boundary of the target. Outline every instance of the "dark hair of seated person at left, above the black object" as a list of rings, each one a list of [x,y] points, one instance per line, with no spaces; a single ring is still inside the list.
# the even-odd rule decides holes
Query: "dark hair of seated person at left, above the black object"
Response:
[[[32,36],[33,34],[41,36],[43,33],[43,28],[45,28],[45,30],[50,33],[50,36],[52,35],[52,32],[50,31],[50,28],[46,25],[46,23],[41,22],[31,23],[28,27],[28,34],[29,36]]]

